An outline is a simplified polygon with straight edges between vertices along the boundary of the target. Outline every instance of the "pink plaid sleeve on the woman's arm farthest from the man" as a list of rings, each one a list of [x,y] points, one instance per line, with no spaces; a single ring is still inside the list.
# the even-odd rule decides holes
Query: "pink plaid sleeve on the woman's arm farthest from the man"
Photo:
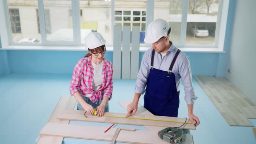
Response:
[[[71,95],[73,95],[75,92],[79,92],[83,66],[84,65],[82,60],[79,60],[79,62],[77,62],[77,64],[75,65],[69,86],[69,91]]]

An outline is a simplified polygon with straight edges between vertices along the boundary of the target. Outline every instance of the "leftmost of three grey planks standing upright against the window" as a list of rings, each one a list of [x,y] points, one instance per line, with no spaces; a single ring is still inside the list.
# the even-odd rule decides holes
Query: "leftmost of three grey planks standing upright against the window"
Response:
[[[121,79],[121,33],[122,26],[114,26],[113,79]]]

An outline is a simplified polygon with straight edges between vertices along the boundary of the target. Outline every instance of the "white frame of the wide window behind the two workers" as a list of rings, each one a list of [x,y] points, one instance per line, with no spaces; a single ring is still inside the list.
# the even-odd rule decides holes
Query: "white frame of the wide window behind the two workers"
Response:
[[[46,41],[43,0],[38,0],[38,13],[39,13],[39,23],[40,23],[42,43],[15,43],[15,42],[12,42],[12,37],[11,37],[10,19],[8,18],[10,15],[7,7],[7,0],[3,0],[0,4],[1,5],[0,15],[5,18],[3,20],[5,23],[0,23],[2,47],[8,49],[8,47],[12,47],[12,46],[40,46],[43,49],[44,46],[48,46],[48,47],[49,46],[55,46],[55,47],[56,46],[72,46],[72,47],[77,46],[78,48],[83,46],[83,44],[80,42],[79,0],[71,0],[71,1],[72,1],[72,24],[73,24],[73,39],[74,39],[73,42],[58,42],[58,41],[47,42]],[[188,51],[188,52],[223,52],[229,3],[230,3],[230,0],[219,1],[214,45],[186,45],[185,40],[186,40],[186,30],[187,30],[186,28],[187,28],[188,0],[183,0],[181,41],[180,43],[174,43],[174,45],[180,48],[181,50]],[[140,11],[142,12],[142,10]],[[154,16],[154,0],[147,0],[146,13],[147,13],[146,14],[146,28],[147,28],[148,24],[154,20],[154,17],[153,17]],[[131,15],[132,15],[132,10],[131,10]],[[111,25],[113,29],[115,24],[115,0],[111,1],[111,19],[112,19]],[[112,30],[112,42],[113,42],[113,30]],[[112,47],[112,44],[107,45],[107,47]],[[145,48],[150,48],[150,47],[151,47],[150,44],[140,44],[141,51],[144,51]]]

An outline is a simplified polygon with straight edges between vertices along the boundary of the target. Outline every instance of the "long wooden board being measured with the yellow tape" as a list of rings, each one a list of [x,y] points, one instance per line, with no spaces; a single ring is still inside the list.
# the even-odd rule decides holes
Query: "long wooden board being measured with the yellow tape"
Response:
[[[146,119],[157,119],[165,121],[151,121],[151,120],[141,120],[141,119],[130,119],[130,118],[112,118],[106,116],[116,116],[125,117],[126,114],[120,113],[110,113],[105,112],[104,116],[98,117],[95,115],[84,116],[85,111],[63,111],[58,115],[58,118],[64,120],[75,120],[75,121],[93,121],[93,122],[103,122],[103,123],[114,123],[114,124],[133,124],[133,125],[148,125],[148,126],[158,126],[158,127],[179,127],[183,123],[176,122],[166,122],[166,121],[180,121],[185,122],[185,118],[175,118],[175,117],[164,117],[164,116],[154,116],[154,115],[133,115],[130,118],[146,118]],[[190,122],[187,120],[187,122]],[[195,130],[194,124],[184,124],[181,128]]]

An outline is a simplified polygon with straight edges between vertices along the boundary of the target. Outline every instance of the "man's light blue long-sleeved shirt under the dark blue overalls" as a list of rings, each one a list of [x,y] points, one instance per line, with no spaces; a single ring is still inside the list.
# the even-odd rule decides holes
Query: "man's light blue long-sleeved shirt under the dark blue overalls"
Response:
[[[148,49],[142,58],[141,67],[138,72],[135,93],[144,94],[146,91],[145,87],[147,85],[147,78],[151,67],[151,53],[153,49]],[[172,59],[177,52],[177,48],[172,44],[166,55],[161,57],[161,53],[155,53],[154,55],[154,68],[163,71],[168,71],[171,65]],[[190,62],[188,56],[184,52],[180,52],[173,66],[172,72],[176,78],[176,87],[179,91],[179,85],[182,79],[185,91],[185,101],[187,104],[193,105],[194,101],[197,99],[195,96],[194,87],[192,83],[192,74],[190,68]]]

